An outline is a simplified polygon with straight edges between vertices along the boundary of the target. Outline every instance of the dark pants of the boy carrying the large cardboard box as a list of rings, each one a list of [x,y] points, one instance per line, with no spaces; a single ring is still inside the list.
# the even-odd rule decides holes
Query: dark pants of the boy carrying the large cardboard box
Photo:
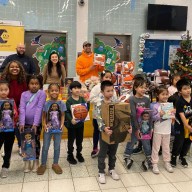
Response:
[[[105,173],[105,158],[108,154],[109,156],[109,170],[112,170],[115,168],[115,162],[116,162],[116,152],[118,148],[118,144],[111,144],[109,145],[105,141],[103,141],[100,137],[99,140],[100,143],[100,150],[98,154],[98,169],[99,173]]]

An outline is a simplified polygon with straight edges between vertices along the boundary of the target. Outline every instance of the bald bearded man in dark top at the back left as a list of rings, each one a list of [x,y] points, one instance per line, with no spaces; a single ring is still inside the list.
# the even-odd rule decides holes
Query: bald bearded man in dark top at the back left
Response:
[[[23,43],[19,43],[16,48],[17,53],[13,55],[9,55],[1,65],[0,72],[3,72],[5,67],[10,61],[16,60],[19,61],[27,74],[35,74],[36,73],[36,66],[33,63],[32,58],[25,55],[25,45]]]

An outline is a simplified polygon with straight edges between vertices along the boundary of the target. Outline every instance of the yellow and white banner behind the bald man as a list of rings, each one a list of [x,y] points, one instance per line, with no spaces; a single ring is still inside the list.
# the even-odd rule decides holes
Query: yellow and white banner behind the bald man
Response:
[[[7,56],[16,52],[19,43],[24,43],[23,26],[0,25],[0,66]]]

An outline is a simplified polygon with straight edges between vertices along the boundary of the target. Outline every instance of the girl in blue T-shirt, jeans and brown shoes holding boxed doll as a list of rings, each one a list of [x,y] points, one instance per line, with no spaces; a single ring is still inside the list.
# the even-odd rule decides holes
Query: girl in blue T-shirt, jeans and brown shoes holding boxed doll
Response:
[[[58,164],[62,133],[61,132],[52,133],[48,129],[48,115],[49,115],[48,112],[49,112],[50,106],[53,103],[58,104],[58,106],[60,107],[60,115],[59,115],[60,127],[59,128],[61,129],[61,131],[64,128],[64,120],[65,120],[64,112],[66,111],[66,105],[63,101],[58,100],[59,92],[60,92],[60,86],[58,84],[53,83],[48,86],[48,94],[49,94],[50,100],[46,101],[43,107],[42,124],[44,128],[44,136],[43,136],[41,166],[37,169],[38,175],[43,175],[46,171],[47,155],[48,155],[48,150],[49,150],[52,136],[54,137],[54,161],[52,164],[52,169],[56,174],[63,173],[61,167]]]

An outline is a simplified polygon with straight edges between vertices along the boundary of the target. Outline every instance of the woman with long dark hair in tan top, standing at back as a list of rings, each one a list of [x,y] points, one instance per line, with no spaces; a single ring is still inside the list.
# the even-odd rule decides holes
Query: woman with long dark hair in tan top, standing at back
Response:
[[[65,67],[59,62],[58,53],[52,52],[49,56],[49,62],[43,69],[43,84],[58,83],[62,85],[65,77]]]

